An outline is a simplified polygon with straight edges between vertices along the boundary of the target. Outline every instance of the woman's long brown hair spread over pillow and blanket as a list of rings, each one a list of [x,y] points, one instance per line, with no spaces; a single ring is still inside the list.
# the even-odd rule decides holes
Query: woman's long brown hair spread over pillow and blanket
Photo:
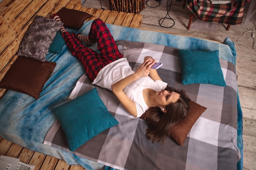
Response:
[[[182,89],[175,89],[167,86],[166,91],[174,91],[180,94],[180,98],[175,103],[166,106],[166,113],[163,113],[160,108],[148,109],[141,118],[148,123],[146,137],[152,139],[152,142],[164,143],[170,129],[180,119],[186,116],[189,110],[189,98],[186,92]]]

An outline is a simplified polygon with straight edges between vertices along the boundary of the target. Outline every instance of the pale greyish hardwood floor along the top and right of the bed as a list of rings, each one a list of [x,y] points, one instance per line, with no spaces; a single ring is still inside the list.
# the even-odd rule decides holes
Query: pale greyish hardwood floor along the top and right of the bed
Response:
[[[109,1],[101,0],[81,0],[83,7],[109,9]],[[146,2],[146,0],[145,0]],[[187,7],[183,9],[183,1],[172,1],[169,15],[173,18],[175,25],[171,28],[164,28],[159,26],[158,20],[164,18],[167,14],[166,0],[160,1],[159,7],[151,8],[145,5],[146,9],[142,10],[140,14],[143,15],[141,28],[153,29],[157,31],[165,31],[168,33],[182,34],[193,36],[196,38],[204,38],[223,42],[226,37],[229,37],[236,45],[237,53],[237,75],[238,75],[238,91],[240,95],[240,103],[243,111],[243,167],[244,170],[256,170],[256,51],[248,49],[246,46],[237,42],[243,33],[246,31],[253,31],[256,26],[256,13],[252,19],[254,22],[247,22],[247,24],[231,26],[229,31],[226,30],[225,24],[211,24],[202,22],[196,17],[193,17],[190,30],[187,30],[189,23],[190,11]],[[150,6],[156,6],[158,2],[155,0],[148,0]],[[248,10],[246,7],[246,10]],[[246,12],[244,14],[245,18]],[[171,25],[170,20],[164,21],[166,26]],[[201,27],[199,25],[202,25]],[[247,33],[241,42],[245,43],[251,49],[253,48],[252,33]]]

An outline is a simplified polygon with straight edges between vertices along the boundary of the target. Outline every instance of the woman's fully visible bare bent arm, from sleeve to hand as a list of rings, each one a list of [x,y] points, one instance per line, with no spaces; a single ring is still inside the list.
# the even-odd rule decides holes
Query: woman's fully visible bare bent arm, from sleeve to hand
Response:
[[[134,117],[137,116],[137,109],[135,106],[135,103],[132,102],[126,94],[123,92],[123,89],[130,83],[134,82],[135,80],[139,79],[140,77],[148,76],[150,67],[155,64],[155,60],[152,60],[150,58],[146,59],[144,63],[142,63],[135,73],[125,77],[124,79],[121,79],[120,81],[116,82],[115,84],[112,84],[111,88],[113,93],[116,95],[116,97],[119,99],[121,104],[124,106],[124,108],[133,115]]]

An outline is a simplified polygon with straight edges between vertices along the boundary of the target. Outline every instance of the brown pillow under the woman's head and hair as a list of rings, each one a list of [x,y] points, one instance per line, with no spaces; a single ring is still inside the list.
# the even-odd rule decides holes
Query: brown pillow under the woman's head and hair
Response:
[[[197,119],[202,115],[206,110],[204,106],[201,106],[192,100],[189,102],[189,111],[183,119],[179,120],[169,132],[171,138],[173,138],[177,144],[180,146],[183,145],[186,136],[189,134],[192,126],[195,124]]]

